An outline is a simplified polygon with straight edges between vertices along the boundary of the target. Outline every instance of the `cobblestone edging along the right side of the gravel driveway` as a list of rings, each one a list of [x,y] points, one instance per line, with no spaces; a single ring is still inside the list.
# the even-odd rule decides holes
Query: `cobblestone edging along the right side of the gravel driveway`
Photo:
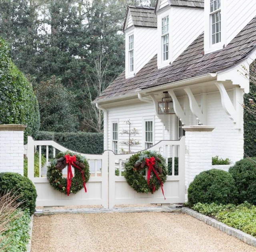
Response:
[[[190,215],[200,221],[203,221],[207,225],[213,226],[214,228],[217,228],[220,231],[222,231],[228,235],[238,238],[242,242],[245,242],[251,246],[256,247],[256,238],[251,236],[250,234],[246,234],[245,232],[243,232],[241,230],[232,228],[220,221],[217,221],[209,216],[198,213],[188,207],[182,207],[182,213],[186,213],[187,215]]]

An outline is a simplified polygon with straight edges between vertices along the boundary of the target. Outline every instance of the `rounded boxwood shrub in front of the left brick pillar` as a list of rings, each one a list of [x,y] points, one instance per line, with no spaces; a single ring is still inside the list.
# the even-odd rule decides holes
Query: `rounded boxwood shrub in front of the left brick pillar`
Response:
[[[24,201],[20,207],[28,208],[32,215],[36,208],[36,187],[30,179],[14,172],[0,173],[0,194],[12,191],[21,194],[19,202]]]

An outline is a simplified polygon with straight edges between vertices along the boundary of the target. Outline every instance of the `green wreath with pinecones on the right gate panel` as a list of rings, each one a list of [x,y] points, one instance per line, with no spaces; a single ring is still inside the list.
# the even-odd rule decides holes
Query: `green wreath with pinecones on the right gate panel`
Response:
[[[128,185],[130,185],[138,193],[154,193],[161,186],[161,181],[156,177],[156,174],[151,171],[149,185],[145,178],[146,176],[146,159],[154,157],[155,164],[154,170],[157,172],[158,177],[164,184],[167,179],[167,168],[165,159],[156,152],[144,151],[132,155],[124,164],[125,173],[124,177]]]

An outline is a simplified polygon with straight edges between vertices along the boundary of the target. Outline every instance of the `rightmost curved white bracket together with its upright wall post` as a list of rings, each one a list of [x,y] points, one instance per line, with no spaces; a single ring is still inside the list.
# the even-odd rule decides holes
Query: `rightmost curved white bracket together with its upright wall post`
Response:
[[[241,128],[242,116],[242,89],[234,88],[234,105],[228,96],[228,93],[222,82],[215,82],[221,96],[221,104],[229,118],[234,122],[235,129]]]

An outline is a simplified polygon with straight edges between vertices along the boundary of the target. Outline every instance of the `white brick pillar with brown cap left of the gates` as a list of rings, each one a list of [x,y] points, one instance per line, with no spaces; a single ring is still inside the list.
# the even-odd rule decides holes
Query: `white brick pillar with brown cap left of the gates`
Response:
[[[0,124],[0,172],[12,171],[23,175],[25,125]]]

